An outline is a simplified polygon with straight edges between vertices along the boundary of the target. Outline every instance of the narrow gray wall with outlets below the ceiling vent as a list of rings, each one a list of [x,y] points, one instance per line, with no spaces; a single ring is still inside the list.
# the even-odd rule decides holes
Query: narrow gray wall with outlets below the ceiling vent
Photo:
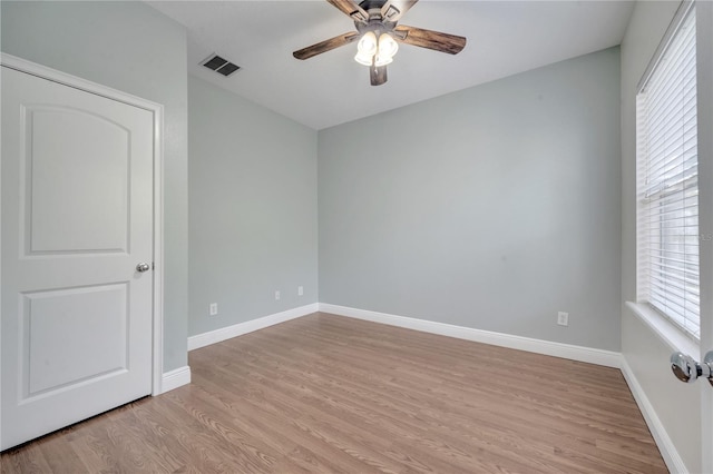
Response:
[[[194,77],[188,107],[188,334],[316,303],[316,131]]]

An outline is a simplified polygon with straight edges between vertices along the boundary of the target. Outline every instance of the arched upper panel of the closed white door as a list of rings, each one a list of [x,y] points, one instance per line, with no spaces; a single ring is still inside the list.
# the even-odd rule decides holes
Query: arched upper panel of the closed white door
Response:
[[[70,108],[21,113],[27,254],[127,251],[129,130]]]

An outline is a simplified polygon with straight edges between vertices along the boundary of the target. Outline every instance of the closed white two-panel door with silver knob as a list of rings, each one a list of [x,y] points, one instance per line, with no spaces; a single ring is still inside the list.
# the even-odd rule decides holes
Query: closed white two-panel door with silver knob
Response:
[[[0,70],[4,450],[152,392],[154,135],[147,110]]]

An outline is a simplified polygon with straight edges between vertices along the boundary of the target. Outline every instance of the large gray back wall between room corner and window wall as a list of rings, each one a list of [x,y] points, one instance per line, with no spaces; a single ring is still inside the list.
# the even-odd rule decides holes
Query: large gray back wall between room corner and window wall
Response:
[[[619,158],[618,48],[321,130],[320,300],[618,350]]]

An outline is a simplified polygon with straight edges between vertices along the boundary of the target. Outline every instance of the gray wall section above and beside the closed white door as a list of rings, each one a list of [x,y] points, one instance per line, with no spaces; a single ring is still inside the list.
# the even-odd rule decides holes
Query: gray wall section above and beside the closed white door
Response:
[[[0,3],[3,52],[165,106],[164,371],[186,365],[186,32],[140,2]]]

